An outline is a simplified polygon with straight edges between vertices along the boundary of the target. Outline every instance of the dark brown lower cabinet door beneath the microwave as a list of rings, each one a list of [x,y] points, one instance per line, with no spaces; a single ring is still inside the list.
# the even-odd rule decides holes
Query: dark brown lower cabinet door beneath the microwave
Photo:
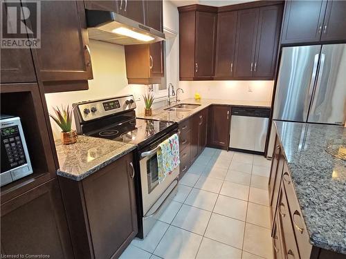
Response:
[[[1,253],[73,258],[56,178],[1,204]]]

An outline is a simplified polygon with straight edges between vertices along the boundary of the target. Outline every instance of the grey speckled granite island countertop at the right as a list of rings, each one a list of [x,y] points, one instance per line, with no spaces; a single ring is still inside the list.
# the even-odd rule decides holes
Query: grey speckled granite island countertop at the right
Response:
[[[316,247],[346,254],[346,161],[325,151],[343,126],[275,122],[295,193]]]

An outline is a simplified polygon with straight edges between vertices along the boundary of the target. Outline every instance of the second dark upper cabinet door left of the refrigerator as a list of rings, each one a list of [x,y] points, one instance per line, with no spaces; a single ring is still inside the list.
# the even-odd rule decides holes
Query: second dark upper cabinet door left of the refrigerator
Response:
[[[253,76],[259,12],[259,8],[238,12],[235,78]]]

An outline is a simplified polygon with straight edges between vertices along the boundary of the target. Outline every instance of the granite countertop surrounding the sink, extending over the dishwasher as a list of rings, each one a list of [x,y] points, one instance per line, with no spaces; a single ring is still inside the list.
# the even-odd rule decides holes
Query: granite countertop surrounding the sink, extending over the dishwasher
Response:
[[[191,117],[195,113],[198,113],[199,111],[203,110],[203,108],[206,108],[212,104],[224,104],[224,105],[230,105],[230,106],[244,106],[244,107],[256,107],[256,108],[271,108],[270,102],[255,102],[255,101],[249,102],[249,101],[221,100],[221,99],[201,99],[197,101],[193,98],[190,98],[190,99],[185,99],[179,102],[178,104],[201,104],[201,105],[188,112],[165,111],[164,109],[169,107],[169,106],[165,106],[165,107],[153,110],[152,116],[145,116],[144,113],[141,113],[139,115],[136,115],[136,117],[145,118],[145,119],[166,120],[170,122],[181,122],[184,119]],[[177,104],[173,103],[171,106],[175,106],[175,105]]]

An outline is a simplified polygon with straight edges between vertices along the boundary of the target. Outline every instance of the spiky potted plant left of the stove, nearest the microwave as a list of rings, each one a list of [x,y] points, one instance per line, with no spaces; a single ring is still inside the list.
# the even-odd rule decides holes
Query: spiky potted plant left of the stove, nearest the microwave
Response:
[[[62,132],[60,133],[62,144],[73,144],[77,142],[77,133],[75,130],[71,130],[73,108],[70,109],[70,106],[68,105],[67,108],[62,106],[61,110],[59,107],[53,107],[53,110],[56,116],[50,113],[49,117],[51,117],[62,129]]]

